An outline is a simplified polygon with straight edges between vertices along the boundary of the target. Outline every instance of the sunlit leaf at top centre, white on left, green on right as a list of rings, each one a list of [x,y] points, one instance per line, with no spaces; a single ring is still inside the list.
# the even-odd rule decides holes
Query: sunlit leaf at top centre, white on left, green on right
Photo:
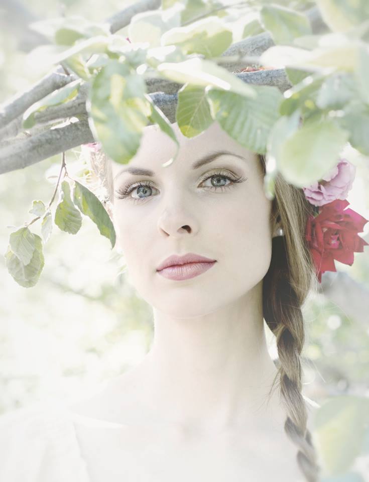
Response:
[[[161,44],[177,45],[183,53],[205,57],[221,55],[232,43],[232,32],[217,17],[201,19],[188,27],[177,27],[166,32]]]

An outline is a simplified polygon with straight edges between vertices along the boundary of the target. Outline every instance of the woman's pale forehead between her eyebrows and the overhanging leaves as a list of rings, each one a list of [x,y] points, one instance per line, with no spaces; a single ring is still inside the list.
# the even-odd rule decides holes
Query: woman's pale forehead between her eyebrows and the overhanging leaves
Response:
[[[238,144],[216,121],[201,134],[192,138],[184,136],[177,123],[171,124],[171,127],[179,142],[179,153],[171,166],[177,162],[181,166],[189,166],[210,151],[229,151],[248,159],[250,164],[256,165],[257,155]],[[161,169],[164,169],[161,165],[169,161],[175,155],[176,150],[175,142],[167,134],[157,125],[150,125],[144,128],[140,148],[130,160],[129,165],[160,172]],[[115,177],[124,166],[114,161],[111,164],[113,177]]]

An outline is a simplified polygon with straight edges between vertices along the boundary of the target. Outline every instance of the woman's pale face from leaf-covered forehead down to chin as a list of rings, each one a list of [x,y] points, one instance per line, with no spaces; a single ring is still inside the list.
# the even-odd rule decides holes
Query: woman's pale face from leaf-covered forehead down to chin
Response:
[[[180,150],[168,167],[162,164],[174,156],[176,145],[155,125],[145,128],[140,149],[128,165],[112,162],[113,222],[130,282],[140,295],[159,311],[187,318],[216,311],[263,280],[274,226],[272,201],[265,196],[256,154],[242,148],[217,122],[191,139],[177,124],[172,127]],[[193,169],[216,151],[231,154]],[[131,167],[154,174],[119,174]],[[147,185],[138,188],[138,182]],[[131,188],[119,199],[119,189]],[[188,280],[173,281],[157,273],[168,256],[186,253],[217,262]]]

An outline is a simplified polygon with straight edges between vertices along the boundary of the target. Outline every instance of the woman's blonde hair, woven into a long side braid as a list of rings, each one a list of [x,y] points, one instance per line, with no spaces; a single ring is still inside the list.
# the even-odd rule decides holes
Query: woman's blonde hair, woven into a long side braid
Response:
[[[266,159],[258,154],[266,174]],[[107,192],[103,200],[108,212],[113,202],[111,161],[101,152],[91,152],[91,168]],[[276,336],[277,374],[269,395],[277,386],[288,417],[284,430],[298,447],[298,465],[308,482],[316,482],[320,467],[307,428],[308,412],[302,396],[301,352],[305,328],[301,307],[310,290],[318,289],[313,260],[305,239],[305,226],[313,206],[301,188],[289,184],[278,173],[272,217],[279,220],[284,236],[272,238],[272,258],[263,279],[263,317]]]

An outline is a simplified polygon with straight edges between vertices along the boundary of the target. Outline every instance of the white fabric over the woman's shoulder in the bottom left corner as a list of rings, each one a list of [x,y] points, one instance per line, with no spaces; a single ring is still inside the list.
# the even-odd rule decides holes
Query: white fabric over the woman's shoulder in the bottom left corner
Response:
[[[37,404],[0,416],[0,482],[90,482],[66,406]]]

